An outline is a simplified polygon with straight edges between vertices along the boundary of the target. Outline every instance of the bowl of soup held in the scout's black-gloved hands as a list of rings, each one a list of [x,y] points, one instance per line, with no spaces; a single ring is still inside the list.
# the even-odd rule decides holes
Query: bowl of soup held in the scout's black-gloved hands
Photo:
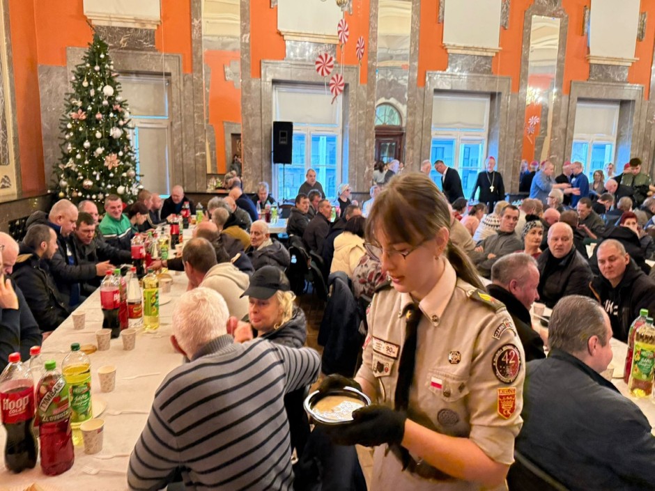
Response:
[[[354,387],[334,389],[325,393],[315,391],[305,399],[305,411],[324,425],[339,425],[353,421],[353,412],[371,404],[371,400]]]

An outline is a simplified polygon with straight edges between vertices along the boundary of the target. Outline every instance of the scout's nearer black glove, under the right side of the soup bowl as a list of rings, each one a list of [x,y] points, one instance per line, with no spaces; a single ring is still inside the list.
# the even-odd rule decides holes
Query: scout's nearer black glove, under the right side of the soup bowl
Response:
[[[353,422],[326,426],[332,442],[339,445],[378,446],[400,444],[405,434],[407,414],[374,404],[353,412]]]

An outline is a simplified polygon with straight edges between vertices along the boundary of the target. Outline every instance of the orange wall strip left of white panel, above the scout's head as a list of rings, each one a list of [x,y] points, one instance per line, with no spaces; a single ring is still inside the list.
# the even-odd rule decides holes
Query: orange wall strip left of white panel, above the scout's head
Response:
[[[448,68],[448,54],[443,47],[443,24],[437,22],[439,0],[421,2],[421,31],[419,32],[419,87],[425,86],[425,72]]]

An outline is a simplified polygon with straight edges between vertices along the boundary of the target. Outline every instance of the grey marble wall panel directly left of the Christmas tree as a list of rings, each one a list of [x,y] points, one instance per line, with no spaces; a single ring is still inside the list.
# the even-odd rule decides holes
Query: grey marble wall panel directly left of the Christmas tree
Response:
[[[63,114],[64,99],[70,91],[68,70],[63,66],[39,65],[38,82],[41,107],[41,134],[45,184],[51,185],[52,169],[61,158],[59,118]]]

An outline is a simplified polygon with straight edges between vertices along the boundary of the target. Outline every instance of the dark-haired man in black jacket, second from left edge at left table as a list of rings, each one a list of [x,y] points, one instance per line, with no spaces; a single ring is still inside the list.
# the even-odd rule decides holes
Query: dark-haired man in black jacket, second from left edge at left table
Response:
[[[25,295],[41,331],[54,331],[70,314],[49,272],[48,260],[59,246],[54,230],[42,224],[31,226],[20,244],[13,278]]]

